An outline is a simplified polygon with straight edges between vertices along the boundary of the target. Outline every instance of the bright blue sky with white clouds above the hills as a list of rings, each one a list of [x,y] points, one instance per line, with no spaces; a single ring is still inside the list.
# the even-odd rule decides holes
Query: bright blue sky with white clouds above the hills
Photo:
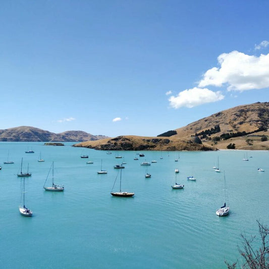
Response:
[[[14,0],[0,129],[156,136],[269,101],[266,0]]]

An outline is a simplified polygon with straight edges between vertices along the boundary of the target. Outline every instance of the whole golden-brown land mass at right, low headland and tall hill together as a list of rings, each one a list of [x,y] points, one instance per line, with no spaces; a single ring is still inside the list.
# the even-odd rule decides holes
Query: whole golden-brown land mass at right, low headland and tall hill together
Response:
[[[269,150],[269,102],[240,105],[157,137],[119,136],[74,146],[100,150]]]

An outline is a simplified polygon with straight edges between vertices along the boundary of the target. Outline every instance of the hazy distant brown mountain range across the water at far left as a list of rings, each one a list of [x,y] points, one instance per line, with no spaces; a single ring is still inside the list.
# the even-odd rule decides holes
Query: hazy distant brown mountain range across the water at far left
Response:
[[[42,129],[20,126],[0,130],[0,141],[21,142],[82,142],[107,138],[103,135],[92,135],[83,131],[66,131],[63,133],[51,133]]]

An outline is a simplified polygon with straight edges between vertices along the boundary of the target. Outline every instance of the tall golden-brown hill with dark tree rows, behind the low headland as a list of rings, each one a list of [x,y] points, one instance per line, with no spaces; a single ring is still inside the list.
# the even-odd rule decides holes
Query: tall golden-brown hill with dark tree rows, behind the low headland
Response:
[[[198,136],[204,144],[219,149],[227,149],[227,145],[234,143],[237,149],[269,150],[268,143],[261,141],[262,136],[269,136],[268,128],[269,102],[257,102],[236,106],[190,123],[174,130],[177,134],[171,137]]]

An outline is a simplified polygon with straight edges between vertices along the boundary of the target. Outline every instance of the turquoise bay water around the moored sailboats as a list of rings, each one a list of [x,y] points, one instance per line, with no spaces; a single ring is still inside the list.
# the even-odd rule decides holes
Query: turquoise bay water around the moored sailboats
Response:
[[[122,151],[122,187],[135,196],[120,198],[110,194],[119,172],[113,166],[122,162],[117,152],[72,144],[0,142],[2,268],[226,268],[225,259],[239,257],[240,234],[257,234],[256,220],[269,225],[268,151],[180,152],[179,162],[176,152],[163,152],[160,159],[160,152],[144,151],[145,157],[134,160],[139,152]],[[13,165],[3,164],[8,152]],[[44,163],[37,162],[40,152]],[[242,160],[244,153],[252,156],[249,162]],[[212,169],[218,156],[222,173]],[[32,172],[25,178],[32,218],[18,208],[22,157],[23,172],[28,163]],[[97,174],[101,159],[106,175]],[[145,179],[140,163],[153,159],[152,176]],[[64,184],[64,192],[43,190],[52,161],[55,183]],[[176,168],[182,190],[171,188]],[[220,218],[215,212],[224,203],[223,170],[231,210]],[[186,180],[192,173],[196,182]]]

